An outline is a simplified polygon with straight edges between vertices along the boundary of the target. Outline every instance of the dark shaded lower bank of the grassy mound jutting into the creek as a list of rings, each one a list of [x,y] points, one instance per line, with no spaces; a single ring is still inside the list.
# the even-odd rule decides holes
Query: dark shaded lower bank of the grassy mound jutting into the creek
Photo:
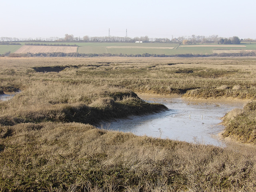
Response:
[[[100,100],[100,101],[99,101]],[[87,106],[84,103],[58,104],[44,109],[20,110],[16,115],[0,116],[1,125],[15,125],[21,122],[81,122],[97,124],[103,120],[125,118],[130,115],[150,114],[167,110],[162,104],[146,103],[137,98],[125,98],[118,102],[112,98],[100,98],[101,106]]]

